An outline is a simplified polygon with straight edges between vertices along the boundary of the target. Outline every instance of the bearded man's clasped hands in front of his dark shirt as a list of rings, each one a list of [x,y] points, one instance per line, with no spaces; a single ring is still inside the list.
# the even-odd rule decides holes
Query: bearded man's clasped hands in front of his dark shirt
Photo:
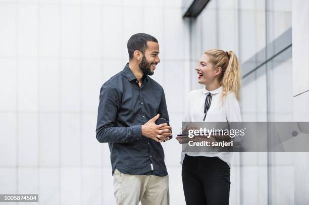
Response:
[[[156,125],[156,121],[159,119],[160,114],[156,115],[144,125],[142,125],[142,135],[151,138],[157,142],[169,140],[172,136],[172,127],[168,126],[167,123]]]

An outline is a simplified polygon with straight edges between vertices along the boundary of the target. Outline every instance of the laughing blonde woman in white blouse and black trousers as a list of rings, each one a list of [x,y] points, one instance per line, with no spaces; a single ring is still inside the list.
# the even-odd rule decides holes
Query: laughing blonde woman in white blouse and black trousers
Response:
[[[198,83],[205,87],[190,92],[184,121],[241,121],[237,56],[232,51],[207,50],[195,70]],[[188,205],[229,204],[230,159],[230,152],[181,153],[182,182]]]

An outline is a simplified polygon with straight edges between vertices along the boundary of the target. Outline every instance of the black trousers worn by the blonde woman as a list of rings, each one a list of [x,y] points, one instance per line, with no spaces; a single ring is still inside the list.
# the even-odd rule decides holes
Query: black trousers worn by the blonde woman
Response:
[[[182,185],[187,205],[227,205],[230,167],[218,157],[185,155]]]

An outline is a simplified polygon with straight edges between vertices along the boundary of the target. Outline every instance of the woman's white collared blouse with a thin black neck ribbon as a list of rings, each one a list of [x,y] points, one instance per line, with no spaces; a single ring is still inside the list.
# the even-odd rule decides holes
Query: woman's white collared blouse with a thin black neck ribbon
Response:
[[[205,122],[241,122],[239,103],[234,92],[229,92],[221,101],[223,87],[209,91],[205,88],[192,90],[186,103],[184,122],[202,122],[204,118],[204,103],[209,92],[212,95],[211,106]],[[185,154],[189,156],[219,157],[231,167],[231,152],[181,152],[181,164]]]

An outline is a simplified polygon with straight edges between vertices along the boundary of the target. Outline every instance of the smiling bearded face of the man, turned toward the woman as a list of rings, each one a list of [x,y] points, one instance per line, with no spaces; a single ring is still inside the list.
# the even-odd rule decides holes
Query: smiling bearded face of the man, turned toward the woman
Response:
[[[159,53],[159,43],[148,41],[143,58],[139,62],[139,68],[144,74],[153,75],[157,64],[160,63]]]

